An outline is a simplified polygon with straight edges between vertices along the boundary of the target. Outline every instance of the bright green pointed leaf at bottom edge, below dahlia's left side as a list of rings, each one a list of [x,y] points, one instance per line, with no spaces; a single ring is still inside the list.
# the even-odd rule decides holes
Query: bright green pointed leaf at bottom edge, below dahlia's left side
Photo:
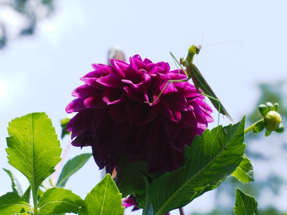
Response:
[[[122,195],[110,174],[107,174],[86,196],[79,215],[123,215]]]

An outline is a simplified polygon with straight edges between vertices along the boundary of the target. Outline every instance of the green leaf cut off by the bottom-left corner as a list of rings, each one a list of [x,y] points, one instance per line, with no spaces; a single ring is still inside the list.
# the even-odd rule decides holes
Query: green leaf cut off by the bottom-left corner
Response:
[[[33,207],[23,201],[16,192],[7,192],[0,196],[0,215],[12,215],[33,211]]]

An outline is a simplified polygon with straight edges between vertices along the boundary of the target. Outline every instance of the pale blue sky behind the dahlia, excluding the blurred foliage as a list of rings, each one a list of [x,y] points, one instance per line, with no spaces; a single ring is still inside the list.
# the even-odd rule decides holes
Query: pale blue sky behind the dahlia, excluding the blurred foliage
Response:
[[[192,44],[202,42],[202,35],[195,33],[204,33],[203,47],[242,40],[240,50],[240,42],[223,43],[202,48],[194,58],[224,107],[239,121],[257,101],[256,83],[287,79],[286,9],[285,1],[267,0],[58,1],[56,13],[40,23],[34,36],[14,40],[0,51],[1,167],[13,169],[5,153],[8,122],[45,111],[60,138],[60,119],[66,116],[72,90],[82,84],[80,77],[92,71],[92,63],[106,63],[108,49],[114,45],[120,45],[127,57],[140,54],[154,62],[169,62],[175,69],[169,52],[186,57]],[[216,122],[211,127],[217,125],[217,113],[213,116]],[[228,119],[220,122],[229,124]],[[67,141],[62,141],[63,146]],[[91,149],[71,147],[69,158],[85,152]],[[69,188],[84,198],[100,180],[97,169],[91,159],[68,181]],[[25,181],[20,174],[17,177]],[[0,194],[10,191],[2,170],[0,178]],[[286,202],[287,191],[282,195]],[[204,194],[186,211],[199,210],[199,202],[214,204],[212,196],[213,192]],[[278,207],[287,210],[286,205]]]

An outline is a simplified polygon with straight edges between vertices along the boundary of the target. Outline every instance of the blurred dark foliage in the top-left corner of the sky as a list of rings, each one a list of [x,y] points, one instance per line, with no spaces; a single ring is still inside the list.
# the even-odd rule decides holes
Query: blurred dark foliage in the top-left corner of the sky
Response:
[[[0,49],[11,39],[32,35],[54,9],[54,0],[0,0]]]

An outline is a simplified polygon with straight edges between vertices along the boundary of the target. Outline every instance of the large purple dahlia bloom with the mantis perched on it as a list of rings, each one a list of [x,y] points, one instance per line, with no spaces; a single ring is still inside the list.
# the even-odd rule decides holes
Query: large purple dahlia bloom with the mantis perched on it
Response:
[[[183,71],[168,63],[129,58],[129,64],[111,59],[111,66],[92,64],[94,71],[81,78],[85,84],[66,112],[78,112],[68,123],[74,146],[92,146],[100,169],[112,173],[122,154],[131,161],[146,161],[149,172],[180,167],[183,149],[213,122],[212,109]],[[147,103],[148,102],[148,103]]]

